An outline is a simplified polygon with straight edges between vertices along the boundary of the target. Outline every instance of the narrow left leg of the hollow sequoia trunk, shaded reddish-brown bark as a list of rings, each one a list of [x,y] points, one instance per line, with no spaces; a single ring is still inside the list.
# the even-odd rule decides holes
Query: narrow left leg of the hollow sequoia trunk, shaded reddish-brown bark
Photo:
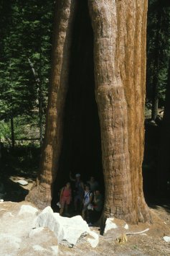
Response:
[[[52,183],[57,174],[57,163],[62,144],[63,108],[68,86],[72,23],[75,0],[57,1],[54,42],[52,51],[52,77],[47,107],[46,131],[39,176],[26,200],[39,208],[51,205]]]

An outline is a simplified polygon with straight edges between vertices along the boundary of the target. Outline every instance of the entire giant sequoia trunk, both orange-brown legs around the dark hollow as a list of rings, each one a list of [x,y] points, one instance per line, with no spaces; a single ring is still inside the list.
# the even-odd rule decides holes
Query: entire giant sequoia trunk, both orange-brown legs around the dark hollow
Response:
[[[65,0],[57,6],[55,62],[41,172],[27,197],[40,208],[50,204],[60,156],[70,56],[68,33],[75,2]],[[95,98],[105,180],[103,220],[115,216],[131,223],[150,221],[141,173],[147,1],[89,0],[88,4],[94,32]]]

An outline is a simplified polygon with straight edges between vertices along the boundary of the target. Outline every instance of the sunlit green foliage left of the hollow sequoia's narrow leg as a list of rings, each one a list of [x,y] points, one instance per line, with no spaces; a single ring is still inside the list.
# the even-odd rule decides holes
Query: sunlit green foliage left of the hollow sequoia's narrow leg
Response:
[[[49,0],[0,3],[0,120],[6,125],[10,118],[21,116],[32,117],[29,121],[39,125],[39,102],[44,123],[54,4]],[[16,136],[20,132],[15,127]]]

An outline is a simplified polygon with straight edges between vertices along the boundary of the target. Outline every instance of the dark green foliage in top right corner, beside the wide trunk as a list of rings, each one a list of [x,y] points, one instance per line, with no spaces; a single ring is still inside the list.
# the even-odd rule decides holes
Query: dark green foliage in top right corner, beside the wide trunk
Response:
[[[148,1],[146,97],[152,98],[155,76],[159,83],[159,102],[164,105],[170,57],[170,4]]]

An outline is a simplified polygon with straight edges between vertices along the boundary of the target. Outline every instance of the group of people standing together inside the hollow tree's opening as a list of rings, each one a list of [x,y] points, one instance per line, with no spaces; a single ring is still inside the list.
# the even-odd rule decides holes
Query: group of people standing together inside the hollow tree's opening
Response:
[[[74,182],[74,187],[67,182],[60,191],[60,215],[65,211],[65,216],[70,216],[69,206],[73,202],[75,214],[81,214],[89,225],[93,225],[100,218],[103,209],[103,195],[100,193],[98,182],[95,177],[90,177],[84,185],[79,173],[75,178],[70,173],[70,180]]]

